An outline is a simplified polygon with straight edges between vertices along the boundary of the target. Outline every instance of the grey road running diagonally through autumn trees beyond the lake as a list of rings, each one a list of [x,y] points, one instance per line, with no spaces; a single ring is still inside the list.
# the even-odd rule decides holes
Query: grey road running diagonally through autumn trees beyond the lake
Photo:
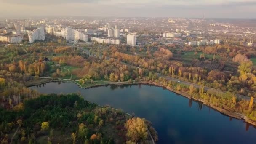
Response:
[[[81,50],[83,50],[83,53],[87,53],[87,54],[89,54],[90,55],[90,53],[89,53],[89,51],[87,50],[87,49],[84,49],[84,48],[81,48],[81,47],[78,47],[78,48],[80,48]],[[90,55],[91,56],[91,55]],[[100,56],[102,56],[101,54],[100,54]],[[109,59],[109,57],[106,57],[106,59]],[[131,67],[136,67],[136,66],[134,66],[134,65],[132,65],[132,64],[127,64],[127,63],[125,63],[125,62],[123,62],[123,61],[120,61],[122,64],[125,64],[125,65],[128,65],[128,66],[131,66]],[[136,68],[139,68],[139,67],[136,67]],[[168,76],[165,76],[165,75],[162,75],[162,74],[160,74],[160,73],[157,73],[157,76],[158,77],[164,77],[165,79],[167,79],[167,80],[172,80],[172,81],[174,81],[174,82],[176,82],[176,83],[181,83],[181,84],[184,84],[184,85],[193,85],[194,86],[194,88],[200,88],[201,87],[201,85],[198,85],[198,84],[195,84],[195,83],[190,83],[190,82],[188,82],[188,81],[184,81],[184,80],[179,80],[179,79],[177,79],[177,78],[173,78],[173,77],[168,77]],[[209,90],[209,89],[212,89],[213,91],[217,91],[217,92],[221,92],[221,93],[226,93],[227,91],[222,91],[222,90],[220,90],[220,89],[215,89],[215,88],[210,88],[210,87],[207,87],[207,86],[204,86],[204,90]],[[251,97],[250,96],[244,96],[244,95],[240,95],[240,94],[236,94],[236,96],[237,96],[237,98],[241,98],[241,99],[245,99],[245,100],[247,100],[247,101],[250,101],[250,99],[251,99]],[[256,99],[254,99],[254,101],[256,101]]]

